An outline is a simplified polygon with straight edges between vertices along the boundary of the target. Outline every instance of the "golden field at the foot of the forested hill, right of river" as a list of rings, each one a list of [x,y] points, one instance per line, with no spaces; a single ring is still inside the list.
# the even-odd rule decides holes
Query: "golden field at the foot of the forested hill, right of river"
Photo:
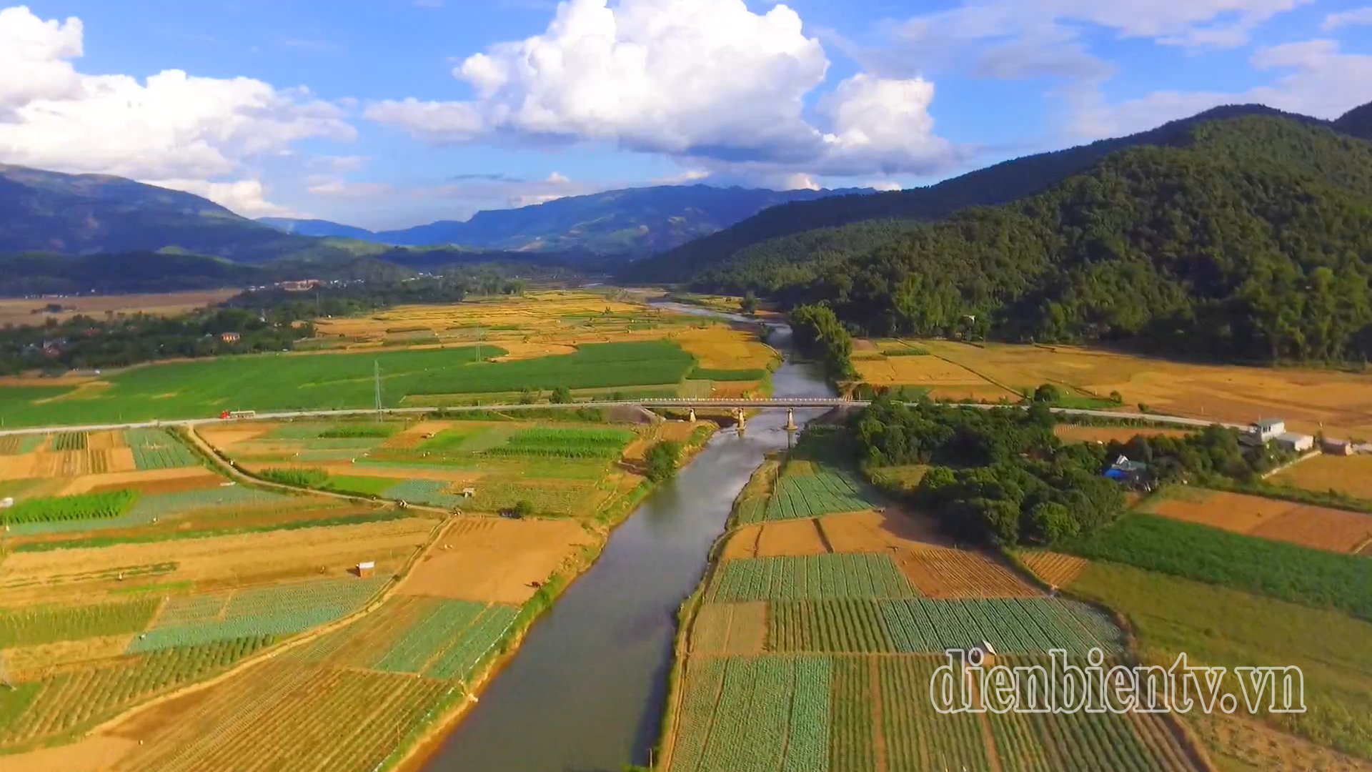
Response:
[[[1284,418],[1287,426],[1332,437],[1372,437],[1372,375],[1314,368],[1184,364],[1080,346],[907,341],[930,356],[858,359],[874,385],[929,387],[948,398],[1017,398],[1021,389],[1055,383],[1081,394],[1118,391],[1122,409],[1249,423]]]

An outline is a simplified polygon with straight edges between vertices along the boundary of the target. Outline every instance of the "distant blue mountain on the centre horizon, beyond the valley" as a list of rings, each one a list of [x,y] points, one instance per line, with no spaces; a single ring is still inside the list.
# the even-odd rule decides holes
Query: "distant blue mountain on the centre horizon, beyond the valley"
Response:
[[[709,185],[628,188],[560,198],[521,209],[477,212],[465,223],[445,220],[380,232],[372,239],[407,246],[648,254],[712,234],[768,206],[851,192],[856,191]]]

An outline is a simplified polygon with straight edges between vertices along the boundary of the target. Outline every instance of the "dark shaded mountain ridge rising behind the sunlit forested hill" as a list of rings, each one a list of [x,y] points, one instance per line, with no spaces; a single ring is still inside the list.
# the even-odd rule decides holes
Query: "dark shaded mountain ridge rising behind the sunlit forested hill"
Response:
[[[969,206],[1017,201],[1084,172],[1113,152],[1139,146],[1172,144],[1184,140],[1188,129],[1199,122],[1240,115],[1272,115],[1303,124],[1324,124],[1317,118],[1294,115],[1262,104],[1216,107],[1147,132],[1026,155],[923,188],[842,195],[774,206],[716,234],[639,261],[626,272],[626,277],[639,282],[683,282],[708,268],[733,262],[741,250],[768,239],[867,220],[938,220]]]

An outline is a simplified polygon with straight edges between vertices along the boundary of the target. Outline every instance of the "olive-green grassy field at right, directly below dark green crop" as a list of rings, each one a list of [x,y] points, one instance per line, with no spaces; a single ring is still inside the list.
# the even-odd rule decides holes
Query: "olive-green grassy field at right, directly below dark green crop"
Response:
[[[1185,651],[1206,665],[1301,668],[1308,710],[1279,724],[1372,760],[1372,624],[1113,563],[1092,563],[1072,589],[1125,614],[1147,661]]]

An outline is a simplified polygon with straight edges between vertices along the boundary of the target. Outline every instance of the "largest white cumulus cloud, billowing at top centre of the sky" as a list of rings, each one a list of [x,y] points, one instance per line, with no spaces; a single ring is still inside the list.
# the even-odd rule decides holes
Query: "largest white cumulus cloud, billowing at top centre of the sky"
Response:
[[[473,99],[387,100],[366,117],[436,143],[598,140],[816,174],[947,163],[932,84],[849,78],[823,100],[830,124],[816,126],[805,102],[827,70],[819,40],[783,4],[755,14],[744,0],[568,0],[542,34],[454,69]],[[888,98],[897,102],[878,103]]]

